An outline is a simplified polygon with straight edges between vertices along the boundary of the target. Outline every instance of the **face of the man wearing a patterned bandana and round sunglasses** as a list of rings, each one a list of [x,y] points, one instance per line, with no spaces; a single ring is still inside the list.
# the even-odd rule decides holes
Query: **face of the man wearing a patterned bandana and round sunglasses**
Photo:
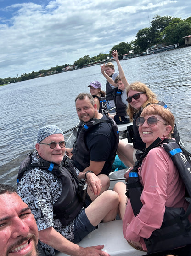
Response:
[[[59,134],[52,134],[46,137],[41,143],[49,144],[52,141],[54,142],[60,142],[64,140],[64,136]],[[61,148],[59,144],[56,144],[56,147],[54,149],[51,149],[49,145],[44,144],[36,144],[36,150],[38,154],[46,161],[53,162],[56,164],[60,164],[63,160],[63,157],[65,155],[66,148]]]

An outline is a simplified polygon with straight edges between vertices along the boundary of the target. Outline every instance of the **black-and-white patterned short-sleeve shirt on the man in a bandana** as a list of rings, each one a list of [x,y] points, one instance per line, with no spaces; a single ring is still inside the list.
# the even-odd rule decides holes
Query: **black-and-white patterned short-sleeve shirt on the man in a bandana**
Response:
[[[32,153],[32,163],[39,161],[37,151]],[[79,170],[76,170],[77,175]],[[34,214],[38,230],[49,227],[62,234],[68,240],[74,239],[74,220],[68,226],[62,226],[60,220],[53,218],[53,204],[62,193],[62,180],[51,172],[34,168],[26,171],[17,187],[18,195],[30,207]],[[54,248],[41,242],[47,255],[55,255]]]

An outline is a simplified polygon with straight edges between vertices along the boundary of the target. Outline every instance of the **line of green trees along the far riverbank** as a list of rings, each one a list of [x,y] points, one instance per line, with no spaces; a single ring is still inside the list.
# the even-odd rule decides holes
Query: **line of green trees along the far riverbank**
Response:
[[[42,74],[43,76],[50,75],[53,71],[61,72],[62,69],[67,66],[77,66],[78,68],[82,68],[86,65],[96,64],[101,60],[106,60],[108,56],[111,57],[112,50],[117,50],[119,56],[122,58],[122,56],[127,54],[130,50],[134,50],[134,54],[139,54],[156,44],[171,45],[179,43],[179,47],[182,47],[185,45],[185,41],[182,37],[190,34],[191,16],[182,20],[181,18],[174,18],[172,16],[155,15],[152,18],[150,27],[139,30],[135,40],[129,43],[121,42],[118,45],[114,45],[108,54],[100,53],[94,57],[85,55],[84,57],[79,58],[79,60],[76,60],[73,65],[65,64],[63,66],[51,67],[51,69],[48,70],[39,70],[38,72],[32,71],[28,74],[21,74],[20,77],[17,75],[17,77],[14,78],[0,78],[0,85],[33,79]]]

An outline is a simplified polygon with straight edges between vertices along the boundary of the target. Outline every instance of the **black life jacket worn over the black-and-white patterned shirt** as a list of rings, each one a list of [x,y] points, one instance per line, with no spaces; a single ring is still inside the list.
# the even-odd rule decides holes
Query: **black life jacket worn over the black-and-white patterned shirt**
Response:
[[[79,191],[79,179],[71,162],[65,156],[60,165],[40,159],[31,163],[31,154],[22,162],[17,176],[17,185],[24,172],[33,168],[46,170],[62,179],[62,193],[53,205],[54,219],[59,219],[63,226],[67,226],[79,214],[83,207],[83,200]]]

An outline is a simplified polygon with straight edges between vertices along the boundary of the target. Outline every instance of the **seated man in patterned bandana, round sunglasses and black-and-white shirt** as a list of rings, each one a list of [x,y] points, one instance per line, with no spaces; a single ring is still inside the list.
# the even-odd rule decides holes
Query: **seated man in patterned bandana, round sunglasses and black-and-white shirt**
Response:
[[[105,191],[84,209],[78,189],[80,179],[86,179],[98,194],[101,181],[95,175],[92,183],[87,173],[79,172],[71,163],[67,166],[62,130],[55,125],[40,128],[35,147],[21,164],[17,191],[34,214],[45,253],[55,255],[57,250],[73,256],[109,256],[101,251],[103,245],[82,248],[76,243],[101,221],[115,218],[118,194]]]

